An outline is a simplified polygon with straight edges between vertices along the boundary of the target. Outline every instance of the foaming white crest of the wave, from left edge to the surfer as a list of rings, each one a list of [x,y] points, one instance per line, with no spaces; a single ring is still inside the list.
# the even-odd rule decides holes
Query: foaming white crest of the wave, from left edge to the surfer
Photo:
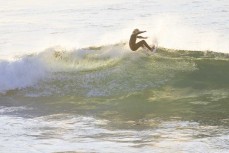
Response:
[[[99,50],[53,47],[31,56],[1,60],[0,92],[33,86],[55,72],[77,72],[113,65],[128,53],[123,45]]]

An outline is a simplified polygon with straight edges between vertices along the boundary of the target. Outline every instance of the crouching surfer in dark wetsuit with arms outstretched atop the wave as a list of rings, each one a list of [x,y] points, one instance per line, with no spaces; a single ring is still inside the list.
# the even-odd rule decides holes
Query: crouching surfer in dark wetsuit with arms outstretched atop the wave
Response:
[[[141,40],[139,42],[136,43],[137,38],[140,39],[147,39],[147,37],[142,37],[142,36],[138,36],[141,33],[144,33],[146,31],[139,31],[138,29],[134,29],[134,31],[132,32],[131,36],[130,36],[130,41],[129,41],[129,45],[130,45],[130,49],[132,51],[136,51],[138,48],[140,47],[146,47],[148,48],[150,51],[153,51],[155,49],[155,46],[153,45],[153,47],[151,48],[145,40]]]

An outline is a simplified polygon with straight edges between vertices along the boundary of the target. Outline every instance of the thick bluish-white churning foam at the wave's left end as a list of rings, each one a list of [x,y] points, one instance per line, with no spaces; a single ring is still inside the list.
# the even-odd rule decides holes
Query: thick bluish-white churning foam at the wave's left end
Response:
[[[0,61],[0,92],[33,85],[45,76],[46,69],[37,58]]]

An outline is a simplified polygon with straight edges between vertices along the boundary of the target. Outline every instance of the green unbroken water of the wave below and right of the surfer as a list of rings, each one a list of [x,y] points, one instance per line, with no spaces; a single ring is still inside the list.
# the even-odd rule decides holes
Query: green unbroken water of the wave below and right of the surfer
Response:
[[[228,126],[227,55],[159,49],[153,56],[143,54],[133,58],[128,55],[127,59],[96,70],[56,72],[54,75],[61,79],[51,83],[48,80],[49,88],[43,83],[42,89],[32,87],[11,91],[8,95],[17,99],[17,105],[33,107],[30,116],[92,115],[111,120],[118,126],[123,122],[144,124],[152,118]],[[79,84],[75,82],[83,82],[85,77],[89,78],[87,86],[77,87]],[[53,95],[22,96],[31,91],[43,93],[50,90],[50,85],[55,89]],[[88,94],[91,91],[102,94]]]

